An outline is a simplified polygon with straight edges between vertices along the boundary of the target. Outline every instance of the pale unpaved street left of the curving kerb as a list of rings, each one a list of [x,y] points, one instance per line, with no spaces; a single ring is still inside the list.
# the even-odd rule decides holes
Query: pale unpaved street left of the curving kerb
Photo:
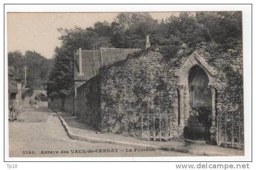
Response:
[[[192,156],[186,153],[148,150],[70,139],[55,112],[28,108],[9,122],[10,157],[140,157]]]

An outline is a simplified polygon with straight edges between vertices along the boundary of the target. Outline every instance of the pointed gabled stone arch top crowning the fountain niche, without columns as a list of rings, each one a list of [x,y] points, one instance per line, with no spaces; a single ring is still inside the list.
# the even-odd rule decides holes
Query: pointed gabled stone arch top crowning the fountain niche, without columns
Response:
[[[201,67],[204,72],[207,74],[208,79],[209,79],[209,86],[216,86],[216,75],[217,72],[210,67],[207,62],[204,61],[204,59],[198,55],[198,53],[194,52],[189,58],[184,62],[184,64],[178,69],[175,73],[174,76],[176,77],[177,84],[179,86],[183,85],[188,85],[188,76],[189,76],[189,71],[190,69],[198,65]]]

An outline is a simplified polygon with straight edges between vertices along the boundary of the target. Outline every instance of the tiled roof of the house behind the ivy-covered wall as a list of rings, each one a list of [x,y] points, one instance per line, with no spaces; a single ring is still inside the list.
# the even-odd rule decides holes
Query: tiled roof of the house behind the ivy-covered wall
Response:
[[[82,73],[79,76],[79,56],[75,55],[74,79],[87,81],[94,77],[102,65],[110,65],[126,59],[128,54],[140,49],[101,48],[100,50],[82,50]]]

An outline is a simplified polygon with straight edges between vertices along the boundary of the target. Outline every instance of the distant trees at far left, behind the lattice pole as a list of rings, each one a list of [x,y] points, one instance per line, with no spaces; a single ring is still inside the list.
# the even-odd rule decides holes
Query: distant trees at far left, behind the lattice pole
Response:
[[[52,59],[46,59],[35,51],[26,51],[23,55],[20,51],[8,53],[8,65],[15,68],[24,79],[23,66],[27,66],[27,88],[46,86],[48,76],[52,68]]]

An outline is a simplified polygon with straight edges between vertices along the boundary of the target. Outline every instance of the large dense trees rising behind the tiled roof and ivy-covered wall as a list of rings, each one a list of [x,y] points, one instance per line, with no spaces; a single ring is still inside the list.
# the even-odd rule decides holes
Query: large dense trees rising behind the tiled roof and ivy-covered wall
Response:
[[[59,29],[61,47],[55,49],[55,64],[48,82],[50,96],[73,92],[73,51],[100,47],[144,48],[149,35],[152,47],[166,58],[176,55],[182,44],[195,48],[204,44],[216,52],[226,51],[242,41],[241,12],[182,12],[165,21],[148,13],[120,13],[110,24],[96,22],[93,27]]]

